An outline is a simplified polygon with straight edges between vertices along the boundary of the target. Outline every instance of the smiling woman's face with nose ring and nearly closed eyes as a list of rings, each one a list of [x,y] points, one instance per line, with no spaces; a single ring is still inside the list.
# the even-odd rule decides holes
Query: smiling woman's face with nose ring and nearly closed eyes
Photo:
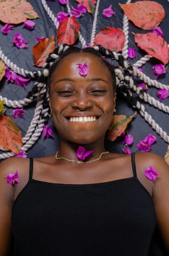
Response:
[[[81,76],[76,64],[83,65],[86,61],[89,71]],[[78,144],[97,141],[105,136],[115,108],[110,72],[90,53],[68,55],[53,73],[49,107],[64,140]],[[97,120],[90,121],[94,116]]]

